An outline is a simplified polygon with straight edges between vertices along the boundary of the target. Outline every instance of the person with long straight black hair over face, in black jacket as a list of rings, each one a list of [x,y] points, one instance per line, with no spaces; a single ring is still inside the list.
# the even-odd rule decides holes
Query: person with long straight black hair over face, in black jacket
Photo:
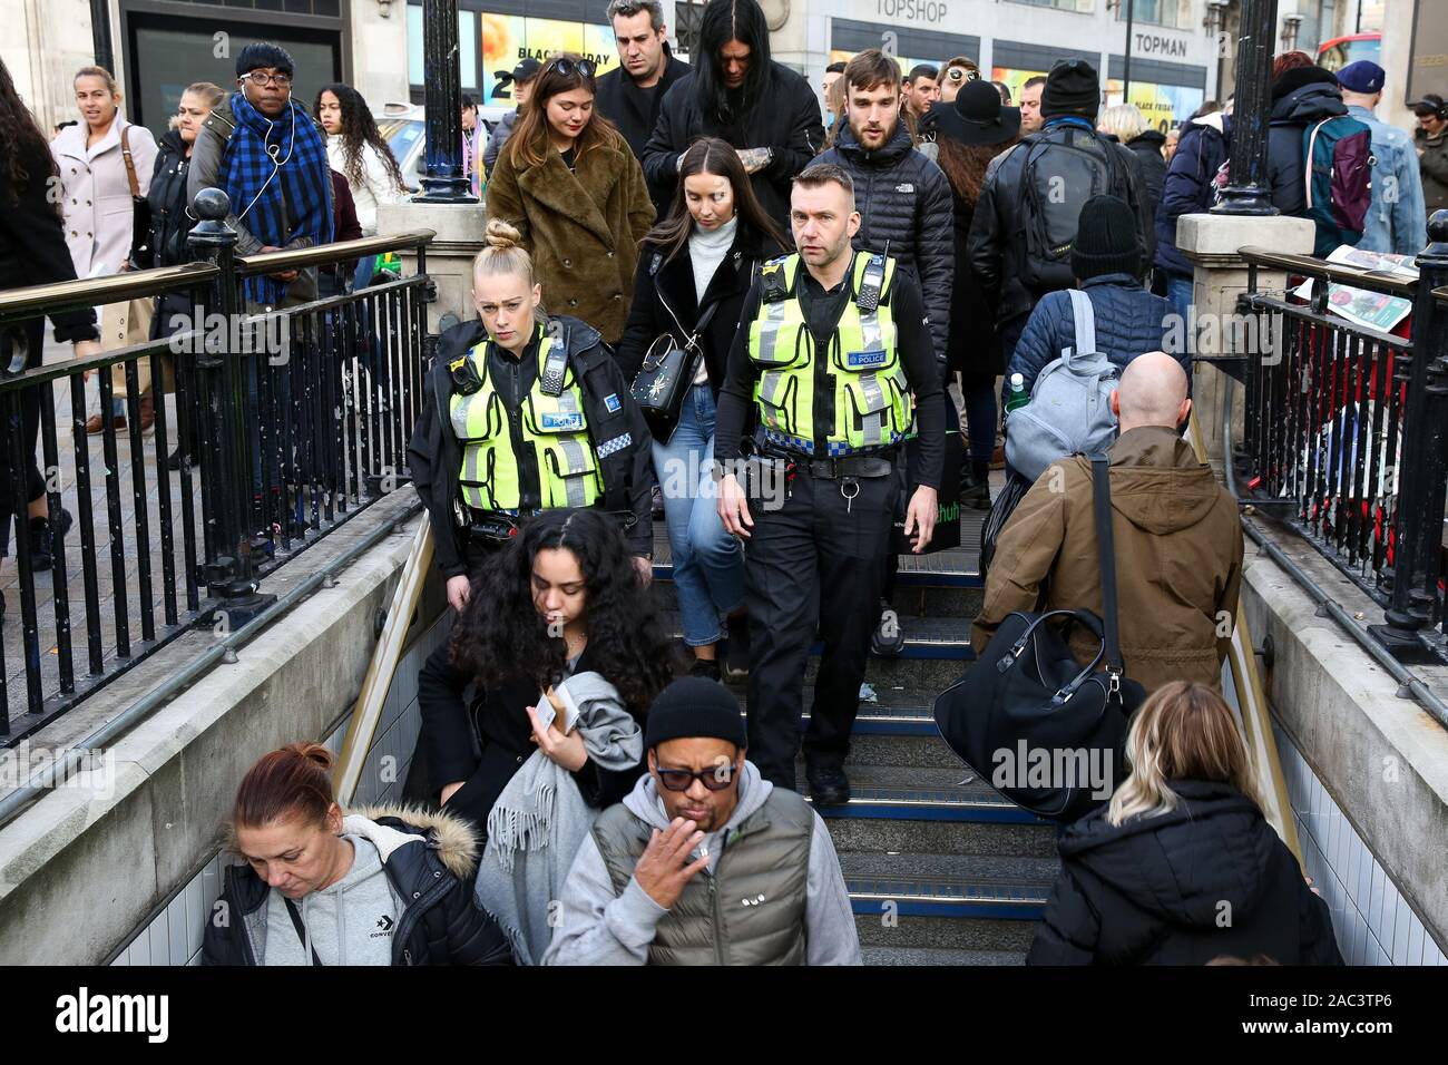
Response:
[[[696,51],[694,72],[665,93],[644,145],[649,188],[672,193],[683,152],[717,136],[738,151],[760,206],[788,233],[791,183],[824,146],[820,100],[808,81],[769,58],[757,0],[710,0]]]

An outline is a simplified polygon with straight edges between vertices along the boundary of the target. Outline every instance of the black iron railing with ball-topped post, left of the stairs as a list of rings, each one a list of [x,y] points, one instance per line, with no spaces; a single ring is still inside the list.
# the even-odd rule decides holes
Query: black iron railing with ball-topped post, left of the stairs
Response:
[[[268,572],[407,481],[433,233],[243,259],[222,222],[224,196],[206,190],[195,210],[200,262],[0,293],[0,327],[135,298],[187,309],[159,339],[0,380],[19,516],[0,642],[0,743],[35,732],[188,627],[240,629],[275,600]],[[416,274],[352,290],[358,259],[403,251],[416,254]],[[340,278],[334,296],[271,313],[245,303],[251,277],[323,267]],[[143,367],[155,412],[146,433]],[[172,372],[168,401],[162,381]],[[117,432],[104,414],[122,381],[126,429]],[[91,435],[96,396],[101,432]],[[68,535],[51,538],[48,571],[33,565],[25,520],[22,409],[36,397],[51,527],[62,527],[62,511],[74,519]],[[172,451],[185,455],[177,469],[168,468]]]

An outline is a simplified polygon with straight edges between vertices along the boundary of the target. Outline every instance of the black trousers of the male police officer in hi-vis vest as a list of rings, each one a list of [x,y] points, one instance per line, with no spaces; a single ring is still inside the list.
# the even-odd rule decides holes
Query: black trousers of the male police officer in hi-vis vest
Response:
[[[749,758],[778,787],[795,788],[805,664],[817,629],[824,656],[805,761],[840,767],[850,752],[898,493],[896,477],[849,483],[799,472],[783,500],[750,500]]]

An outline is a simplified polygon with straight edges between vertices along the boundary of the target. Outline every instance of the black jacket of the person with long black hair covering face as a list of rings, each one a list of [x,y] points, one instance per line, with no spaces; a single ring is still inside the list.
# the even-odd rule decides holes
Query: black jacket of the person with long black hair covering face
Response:
[[[723,138],[736,149],[773,148],[767,167],[750,174],[754,196],[780,232],[789,233],[789,183],[824,143],[820,100],[809,83],[788,67],[770,61],[769,87],[730,125],[704,120],[695,78],[676,81],[663,97],[659,125],[643,152],[643,172],[650,193],[673,194],[679,183],[679,156],[701,136]]]

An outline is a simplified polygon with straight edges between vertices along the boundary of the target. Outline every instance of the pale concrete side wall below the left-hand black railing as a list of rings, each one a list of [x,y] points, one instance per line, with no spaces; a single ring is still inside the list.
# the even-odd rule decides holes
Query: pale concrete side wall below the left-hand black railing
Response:
[[[284,593],[414,501],[411,488],[379,500],[308,548],[306,565],[269,577],[268,590]],[[125,735],[104,752],[104,787],[51,791],[0,829],[0,965],[110,958],[216,849],[236,784],[256,758],[329,735],[361,690],[376,616],[391,601],[417,520],[275,622],[236,664],[213,669]],[[420,614],[430,617],[436,603]],[[106,693],[110,713],[210,639],[188,633],[127,674]],[[106,713],[97,700],[87,701],[87,714]],[[74,722],[62,717],[62,726]],[[33,742],[56,743],[45,730]]]

